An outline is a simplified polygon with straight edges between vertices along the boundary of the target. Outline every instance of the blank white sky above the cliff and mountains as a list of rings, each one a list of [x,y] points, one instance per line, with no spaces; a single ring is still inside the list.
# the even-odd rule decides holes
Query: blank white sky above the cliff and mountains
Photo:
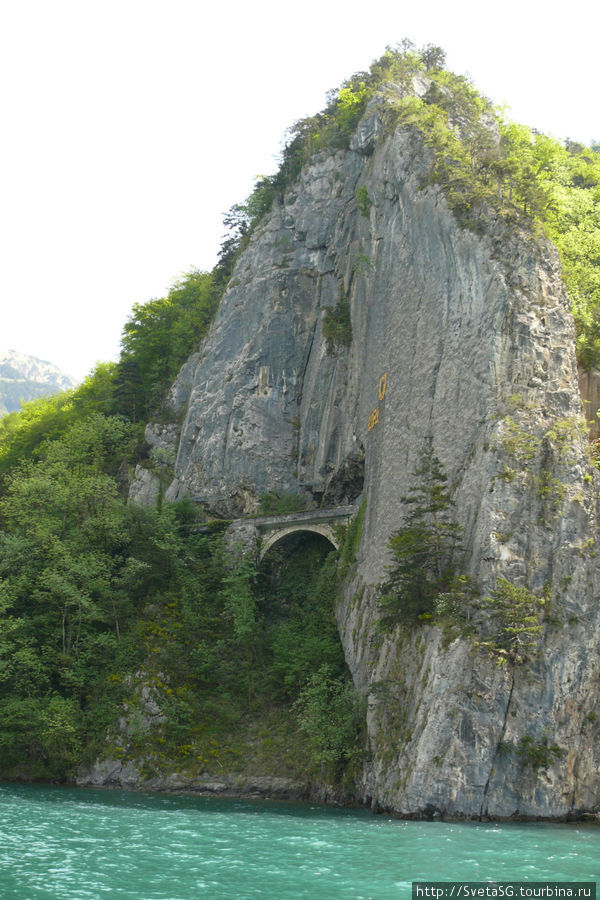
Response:
[[[77,378],[116,358],[134,303],[212,268],[285,129],[404,37],[600,138],[599,25],[596,0],[2,0],[0,348]]]

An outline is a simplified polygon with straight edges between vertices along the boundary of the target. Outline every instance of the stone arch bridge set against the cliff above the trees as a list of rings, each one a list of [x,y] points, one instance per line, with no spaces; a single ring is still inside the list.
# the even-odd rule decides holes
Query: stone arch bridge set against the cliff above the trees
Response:
[[[225,532],[225,539],[230,546],[237,544],[241,546],[243,552],[252,553],[258,562],[262,562],[274,544],[298,531],[321,534],[337,550],[339,544],[334,526],[345,525],[357,512],[358,506],[353,504],[287,513],[282,516],[235,519]]]

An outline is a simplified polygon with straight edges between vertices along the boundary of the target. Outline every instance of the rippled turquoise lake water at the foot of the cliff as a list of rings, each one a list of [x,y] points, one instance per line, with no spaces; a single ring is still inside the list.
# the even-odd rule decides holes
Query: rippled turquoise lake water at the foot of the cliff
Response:
[[[593,881],[600,828],[0,786],[0,898],[410,897],[413,880]]]

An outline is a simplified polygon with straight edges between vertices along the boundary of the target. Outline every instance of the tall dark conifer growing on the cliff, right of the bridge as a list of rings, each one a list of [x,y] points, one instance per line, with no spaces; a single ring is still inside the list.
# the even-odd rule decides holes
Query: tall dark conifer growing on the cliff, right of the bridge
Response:
[[[394,562],[380,600],[384,629],[431,618],[441,609],[455,611],[470,590],[458,574],[462,528],[452,520],[454,501],[442,464],[432,448],[421,454],[415,485],[402,498],[408,511],[389,541]]]

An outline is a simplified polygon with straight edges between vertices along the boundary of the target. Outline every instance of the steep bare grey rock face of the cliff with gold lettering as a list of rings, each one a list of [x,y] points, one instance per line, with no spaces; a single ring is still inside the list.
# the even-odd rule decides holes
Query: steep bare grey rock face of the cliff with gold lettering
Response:
[[[219,515],[254,512],[267,490],[324,505],[364,491],[338,620],[357,686],[379,685],[365,799],[405,815],[597,809],[595,476],[556,254],[500,224],[462,230],[436,187],[420,189],[426,162],[414,135],[383,134],[375,105],[351,149],[315,157],[253,234],[173,388],[180,435],[151,426],[149,439],[175,459],[168,496]],[[323,319],[341,291],[353,338],[331,355]],[[371,640],[425,442],[455,486],[482,590],[501,576],[552,596],[529,664],[499,667],[431,626]],[[523,738],[562,755],[536,769]]]

